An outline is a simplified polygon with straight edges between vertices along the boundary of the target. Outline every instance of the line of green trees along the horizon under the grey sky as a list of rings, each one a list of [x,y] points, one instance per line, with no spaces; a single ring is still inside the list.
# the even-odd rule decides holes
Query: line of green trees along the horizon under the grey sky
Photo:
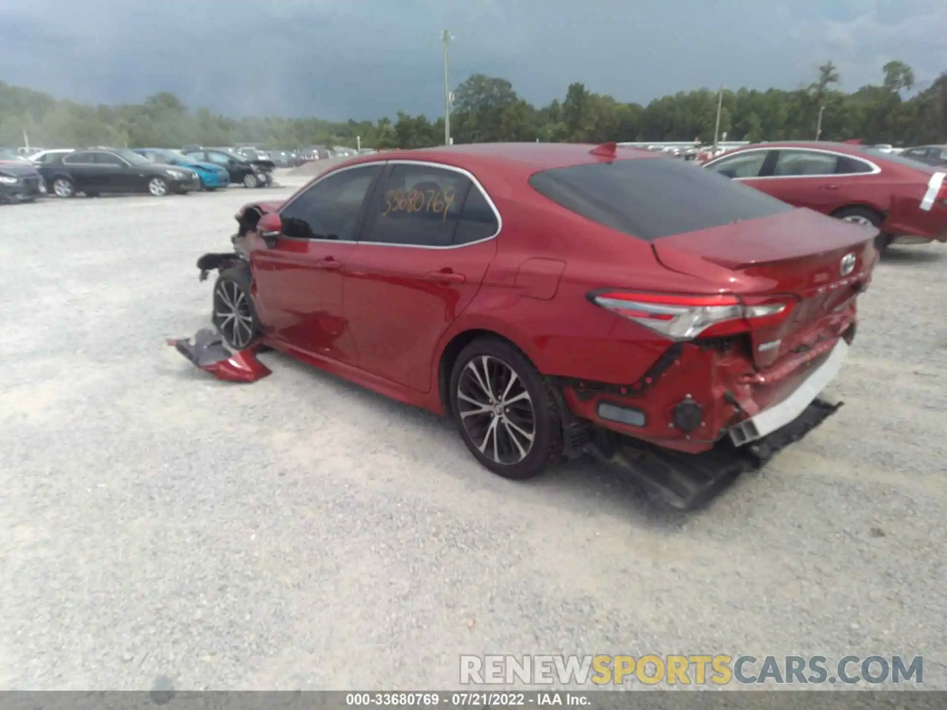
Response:
[[[884,64],[881,83],[840,91],[832,62],[818,67],[808,85],[794,90],[701,88],[624,103],[569,85],[562,100],[536,107],[505,79],[476,74],[456,87],[451,134],[456,143],[483,141],[588,142],[714,138],[718,100],[720,131],[730,140],[861,138],[867,143],[917,145],[947,142],[947,72],[914,88],[914,72],[899,61]],[[821,119],[820,119],[821,114]],[[820,129],[820,130],[819,130]],[[398,112],[375,122],[319,118],[232,118],[206,108],[189,110],[161,92],[141,104],[90,106],[0,82],[0,145],[44,148],[111,145],[180,148],[186,144],[302,148],[313,145],[422,148],[443,143],[443,117]]]

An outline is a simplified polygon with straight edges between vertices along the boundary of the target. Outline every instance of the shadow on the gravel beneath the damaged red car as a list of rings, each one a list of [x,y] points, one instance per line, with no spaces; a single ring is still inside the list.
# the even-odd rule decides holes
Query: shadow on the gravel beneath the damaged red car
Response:
[[[430,433],[432,430],[443,435],[444,440],[452,448],[456,448],[458,456],[474,457],[467,451],[460,436],[457,434],[453,420],[449,417],[439,417],[427,410],[413,407],[394,399],[389,399],[372,390],[366,389],[353,382],[348,382],[329,372],[320,370],[309,364],[300,363],[294,358],[279,352],[267,352],[260,355],[260,362],[270,367],[274,376],[278,377],[280,370],[294,370],[304,373],[307,377],[318,379],[325,385],[330,385],[345,398],[380,410],[384,418],[400,421],[409,427],[417,427],[420,431]],[[209,377],[204,372],[192,368],[191,377]],[[182,376],[184,377],[184,376]],[[188,377],[188,381],[191,379]],[[266,381],[261,381],[266,382]],[[233,386],[232,382],[220,382],[223,386]],[[527,481],[505,481],[495,476],[489,470],[480,469],[484,476],[491,477],[491,483],[504,488],[504,495],[520,498],[524,502],[542,498],[544,505],[553,505],[572,512],[585,514],[599,514],[607,512],[622,517],[637,519],[641,524],[656,529],[665,529],[673,532],[699,516],[702,510],[714,505],[714,502],[731,488],[736,481],[752,473],[743,474],[740,478],[729,481],[706,501],[706,505],[689,510],[676,510],[661,501],[653,499],[634,479],[626,472],[600,464],[591,455],[579,459],[562,461],[542,475]],[[466,477],[460,469],[446,470],[448,475]]]

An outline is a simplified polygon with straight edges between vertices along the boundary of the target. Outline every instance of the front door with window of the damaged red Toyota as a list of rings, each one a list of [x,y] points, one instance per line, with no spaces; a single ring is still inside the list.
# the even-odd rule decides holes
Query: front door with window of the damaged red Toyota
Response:
[[[284,343],[355,364],[343,313],[343,270],[383,169],[356,166],[316,181],[280,208],[276,245],[251,252],[260,320]]]

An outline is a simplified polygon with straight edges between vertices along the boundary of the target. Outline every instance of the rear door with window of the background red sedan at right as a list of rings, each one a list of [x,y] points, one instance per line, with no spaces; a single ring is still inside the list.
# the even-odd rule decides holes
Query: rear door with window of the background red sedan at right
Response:
[[[858,201],[864,177],[877,172],[874,164],[833,151],[784,149],[765,182],[765,191],[785,203],[831,214],[845,204]]]

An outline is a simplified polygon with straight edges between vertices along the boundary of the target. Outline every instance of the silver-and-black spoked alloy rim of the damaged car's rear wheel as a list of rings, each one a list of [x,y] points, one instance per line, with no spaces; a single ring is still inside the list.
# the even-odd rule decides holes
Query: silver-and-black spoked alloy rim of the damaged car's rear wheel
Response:
[[[526,382],[509,364],[479,355],[457,382],[457,409],[464,431],[480,453],[505,466],[532,450],[536,412]]]

